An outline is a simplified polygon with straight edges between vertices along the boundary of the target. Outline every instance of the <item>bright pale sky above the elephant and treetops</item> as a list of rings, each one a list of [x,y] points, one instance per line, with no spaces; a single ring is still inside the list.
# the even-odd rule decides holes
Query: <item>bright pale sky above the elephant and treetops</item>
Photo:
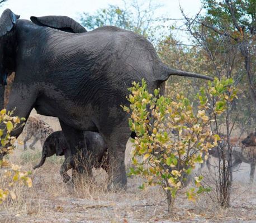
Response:
[[[146,2],[147,0],[139,0]],[[129,4],[129,0],[126,3]],[[179,2],[187,15],[195,15],[200,7],[200,0],[153,0],[155,4],[160,4],[156,16],[169,18],[182,18],[179,11]],[[0,14],[6,8],[10,8],[14,13],[20,14],[21,18],[29,19],[30,16],[69,16],[74,20],[79,20],[79,14],[82,12],[93,13],[99,8],[106,8],[108,4],[124,6],[122,0],[8,0],[0,8]],[[182,35],[182,34],[179,34]],[[182,39],[184,36],[181,36]],[[186,38],[186,37],[185,37]]]

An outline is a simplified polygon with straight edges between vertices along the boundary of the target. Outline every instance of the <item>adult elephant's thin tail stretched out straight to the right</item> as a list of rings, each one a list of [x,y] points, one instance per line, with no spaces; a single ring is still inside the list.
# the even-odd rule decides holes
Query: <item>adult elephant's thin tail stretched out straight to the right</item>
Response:
[[[159,73],[160,73],[160,77],[158,80],[160,80],[160,81],[166,81],[170,75],[196,77],[196,78],[200,78],[200,79],[214,80],[210,76],[196,74],[196,73],[182,71],[182,70],[176,70],[176,69],[168,67],[167,65],[165,65],[163,63],[160,64],[160,72]]]

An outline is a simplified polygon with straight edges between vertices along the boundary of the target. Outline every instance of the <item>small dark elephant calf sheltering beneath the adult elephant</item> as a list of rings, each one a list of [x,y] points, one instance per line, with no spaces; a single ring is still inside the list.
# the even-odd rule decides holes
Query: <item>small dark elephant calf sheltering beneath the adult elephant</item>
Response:
[[[92,167],[102,167],[106,172],[108,172],[107,146],[101,135],[95,132],[84,132],[84,140],[86,142],[88,152],[91,155],[89,160]],[[41,161],[33,167],[33,169],[41,167],[42,164],[44,164],[46,157],[53,156],[54,154],[56,154],[56,156],[65,156],[65,161],[60,168],[60,175],[63,177],[64,183],[67,183],[70,180],[70,176],[67,171],[72,168],[72,164],[70,162],[72,154],[62,131],[51,133],[45,140],[42,148]]]

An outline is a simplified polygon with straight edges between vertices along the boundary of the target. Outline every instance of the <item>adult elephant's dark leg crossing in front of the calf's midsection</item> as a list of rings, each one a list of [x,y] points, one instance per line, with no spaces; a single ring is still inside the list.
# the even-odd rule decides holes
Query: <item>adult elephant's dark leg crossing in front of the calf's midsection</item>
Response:
[[[69,127],[60,120],[61,129],[68,141],[69,149],[71,152],[71,165],[74,167],[73,176],[82,177],[83,175],[92,177],[92,165],[89,162],[89,154],[84,140],[82,130],[77,130]],[[73,180],[73,179],[72,179]]]

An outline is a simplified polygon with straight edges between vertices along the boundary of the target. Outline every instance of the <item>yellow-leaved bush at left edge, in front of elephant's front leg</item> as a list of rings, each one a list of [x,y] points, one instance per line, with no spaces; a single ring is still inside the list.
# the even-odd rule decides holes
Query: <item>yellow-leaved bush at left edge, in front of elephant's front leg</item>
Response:
[[[23,119],[22,119],[23,120]],[[4,154],[10,154],[13,151],[16,138],[11,137],[11,132],[17,128],[17,125],[21,122],[18,117],[13,117],[11,112],[6,112],[6,109],[0,112],[0,157]],[[0,160],[0,168],[4,171],[3,178],[5,179],[3,188],[0,188],[0,203],[7,199],[8,195],[11,195],[12,199],[15,199],[15,192],[12,190],[15,183],[25,184],[28,187],[32,186],[31,178],[29,178],[29,172],[21,171],[20,167],[16,164],[8,162],[6,159]]]

